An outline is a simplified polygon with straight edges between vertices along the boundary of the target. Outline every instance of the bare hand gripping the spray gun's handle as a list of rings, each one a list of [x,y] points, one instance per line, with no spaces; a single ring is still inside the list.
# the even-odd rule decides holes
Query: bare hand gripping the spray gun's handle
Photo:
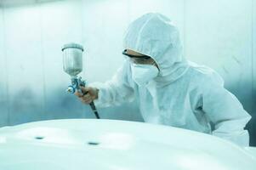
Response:
[[[75,95],[82,101],[84,104],[90,104],[94,99],[98,99],[99,89],[93,87],[80,87],[81,92],[76,92]]]

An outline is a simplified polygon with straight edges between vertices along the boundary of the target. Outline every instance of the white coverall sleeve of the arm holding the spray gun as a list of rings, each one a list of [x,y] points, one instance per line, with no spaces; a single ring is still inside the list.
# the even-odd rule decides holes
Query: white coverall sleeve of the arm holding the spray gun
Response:
[[[134,82],[130,78],[128,61],[124,62],[110,81],[94,82],[89,86],[99,89],[98,99],[94,100],[94,104],[99,107],[121,105],[134,100]]]

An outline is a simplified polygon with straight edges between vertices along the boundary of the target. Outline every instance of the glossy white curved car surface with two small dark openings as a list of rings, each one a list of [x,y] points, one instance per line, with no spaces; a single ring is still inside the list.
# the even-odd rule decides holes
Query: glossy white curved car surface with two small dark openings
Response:
[[[3,127],[0,159],[0,168],[8,170],[254,170],[256,163],[246,150],[208,134],[110,120]]]

